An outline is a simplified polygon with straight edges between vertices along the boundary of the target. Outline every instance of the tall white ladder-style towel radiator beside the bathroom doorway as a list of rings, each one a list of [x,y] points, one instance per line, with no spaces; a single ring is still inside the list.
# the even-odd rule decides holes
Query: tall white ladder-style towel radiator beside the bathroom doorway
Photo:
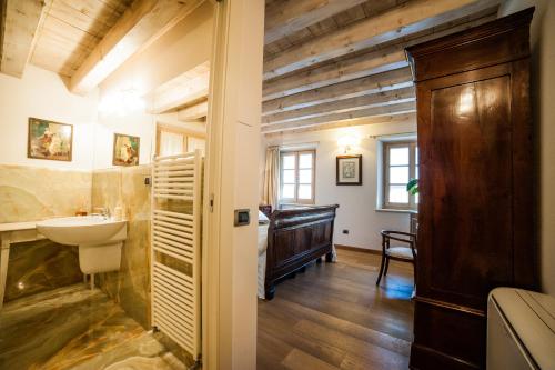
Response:
[[[152,327],[201,354],[200,150],[155,157],[152,166]]]

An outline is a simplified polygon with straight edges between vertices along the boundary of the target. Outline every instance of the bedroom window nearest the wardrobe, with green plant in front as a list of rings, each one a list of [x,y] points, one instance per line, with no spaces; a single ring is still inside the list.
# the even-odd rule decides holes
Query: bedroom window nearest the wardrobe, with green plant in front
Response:
[[[418,178],[418,149],[415,141],[383,143],[383,204],[384,209],[414,210],[418,194],[406,191],[411,179]]]

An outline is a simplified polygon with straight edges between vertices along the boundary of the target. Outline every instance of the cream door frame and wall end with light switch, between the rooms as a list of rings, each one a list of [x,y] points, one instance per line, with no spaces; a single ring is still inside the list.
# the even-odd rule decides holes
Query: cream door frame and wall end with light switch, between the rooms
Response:
[[[204,370],[256,367],[264,3],[215,3],[203,217]],[[233,226],[235,209],[250,209],[250,226]]]

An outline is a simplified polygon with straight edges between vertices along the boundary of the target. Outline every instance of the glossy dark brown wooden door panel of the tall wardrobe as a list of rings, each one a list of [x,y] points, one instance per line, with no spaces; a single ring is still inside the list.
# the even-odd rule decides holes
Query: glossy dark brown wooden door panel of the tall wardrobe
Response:
[[[432,146],[420,150],[428,158],[422,198],[434,199],[422,224],[433,231],[422,251],[431,297],[483,309],[487,292],[513,277],[511,77],[464,74],[465,83],[437,79],[430,90],[423,134]]]

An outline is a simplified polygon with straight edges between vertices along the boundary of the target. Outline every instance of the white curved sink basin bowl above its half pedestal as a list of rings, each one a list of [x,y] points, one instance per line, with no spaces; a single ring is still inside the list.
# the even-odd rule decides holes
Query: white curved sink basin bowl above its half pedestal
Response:
[[[102,216],[64,217],[37,222],[37,229],[60,244],[82,246],[114,241],[112,237],[125,227],[125,222]]]

